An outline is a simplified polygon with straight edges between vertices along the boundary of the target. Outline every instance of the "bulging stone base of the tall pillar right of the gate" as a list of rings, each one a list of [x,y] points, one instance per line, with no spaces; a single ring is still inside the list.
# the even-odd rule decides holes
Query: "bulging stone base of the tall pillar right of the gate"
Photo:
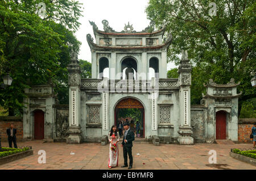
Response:
[[[194,138],[191,136],[192,128],[191,127],[179,127],[178,133],[180,136],[177,138],[177,142],[180,145],[193,145]]]

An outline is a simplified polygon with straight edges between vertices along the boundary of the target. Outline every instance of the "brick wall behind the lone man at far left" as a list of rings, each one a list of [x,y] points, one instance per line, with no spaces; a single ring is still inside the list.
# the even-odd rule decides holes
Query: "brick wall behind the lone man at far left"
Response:
[[[14,124],[17,129],[16,138],[17,142],[23,141],[23,121],[22,117],[15,116],[0,116],[0,136],[2,142],[7,142],[8,137],[6,129],[10,128],[10,124]]]

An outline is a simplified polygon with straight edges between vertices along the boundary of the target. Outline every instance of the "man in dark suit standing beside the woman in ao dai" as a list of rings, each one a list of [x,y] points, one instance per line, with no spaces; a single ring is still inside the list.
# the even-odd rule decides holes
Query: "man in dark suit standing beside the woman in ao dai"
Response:
[[[131,147],[133,147],[133,141],[134,141],[134,133],[133,131],[130,130],[130,125],[129,123],[123,124],[123,128],[125,129],[125,134],[123,136],[123,159],[125,160],[125,165],[121,167],[128,167],[127,163],[127,153],[129,155],[129,167],[128,169],[133,168],[133,155],[131,154]]]

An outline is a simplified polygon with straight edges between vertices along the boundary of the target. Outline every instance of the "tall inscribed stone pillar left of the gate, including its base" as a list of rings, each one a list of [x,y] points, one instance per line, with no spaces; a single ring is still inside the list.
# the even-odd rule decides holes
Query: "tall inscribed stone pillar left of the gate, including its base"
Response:
[[[69,85],[69,136],[67,144],[81,144],[81,117],[80,117],[80,85],[81,70],[77,60],[77,53],[73,53],[71,63],[68,64]]]

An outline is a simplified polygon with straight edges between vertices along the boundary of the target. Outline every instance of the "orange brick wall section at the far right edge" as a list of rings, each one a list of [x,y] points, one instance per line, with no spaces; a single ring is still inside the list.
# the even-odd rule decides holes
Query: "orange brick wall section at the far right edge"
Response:
[[[256,119],[239,119],[238,120],[238,141],[249,143],[251,128],[253,124],[256,123]]]

